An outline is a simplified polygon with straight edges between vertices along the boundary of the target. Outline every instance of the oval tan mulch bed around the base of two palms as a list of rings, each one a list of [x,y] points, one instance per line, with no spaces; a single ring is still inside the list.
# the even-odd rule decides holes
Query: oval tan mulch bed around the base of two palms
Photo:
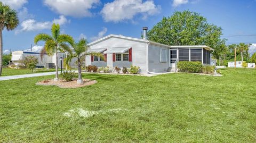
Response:
[[[67,82],[63,79],[59,79],[58,81],[49,79],[49,80],[39,81],[36,83],[36,85],[38,85],[38,86],[58,86],[60,88],[79,88],[79,87],[94,85],[95,83],[97,83],[96,80],[90,80],[90,79],[83,79],[82,84],[78,84],[76,79],[74,79],[73,81],[69,81],[69,82]]]

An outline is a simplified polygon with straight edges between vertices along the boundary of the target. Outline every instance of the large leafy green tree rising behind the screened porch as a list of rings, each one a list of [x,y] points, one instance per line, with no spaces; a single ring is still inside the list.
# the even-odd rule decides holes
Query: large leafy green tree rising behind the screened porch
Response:
[[[221,39],[222,29],[207,22],[195,12],[176,11],[164,17],[148,32],[148,38],[165,45],[206,45],[215,49],[213,56],[219,58],[226,48]]]

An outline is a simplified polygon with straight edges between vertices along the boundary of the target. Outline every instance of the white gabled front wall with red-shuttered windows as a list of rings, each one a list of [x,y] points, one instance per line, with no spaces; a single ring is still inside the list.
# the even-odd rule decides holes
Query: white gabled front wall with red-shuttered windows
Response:
[[[132,47],[132,64],[140,66],[141,73],[147,73],[147,44],[145,42],[111,37],[109,39],[100,41],[99,43],[90,46],[90,48],[92,49],[114,47]],[[112,62],[112,54],[107,55],[107,62],[108,66],[110,67],[116,65],[115,62]],[[118,63],[118,65],[120,67],[123,67],[127,65],[127,62]],[[130,67],[130,64],[128,67]]]

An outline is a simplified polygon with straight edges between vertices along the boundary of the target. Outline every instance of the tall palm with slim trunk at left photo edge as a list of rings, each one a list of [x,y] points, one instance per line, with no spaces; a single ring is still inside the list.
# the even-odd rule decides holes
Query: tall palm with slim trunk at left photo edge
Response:
[[[15,29],[19,24],[17,12],[0,2],[0,76],[3,68],[3,30],[8,31]]]

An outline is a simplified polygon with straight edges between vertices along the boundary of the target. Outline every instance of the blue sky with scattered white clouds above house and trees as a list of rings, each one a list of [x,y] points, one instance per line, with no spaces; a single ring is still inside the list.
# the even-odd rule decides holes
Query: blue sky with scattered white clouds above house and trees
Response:
[[[223,29],[227,44],[256,43],[256,0],[0,0],[19,13],[16,30],[3,31],[5,52],[34,45],[37,33],[50,33],[51,24],[76,40],[89,41],[109,34],[140,38],[142,27],[151,29],[163,16],[190,10]],[[120,8],[122,6],[122,8]],[[42,46],[43,43],[39,43]],[[34,47],[35,49],[38,46]],[[256,44],[251,48],[256,51]]]

